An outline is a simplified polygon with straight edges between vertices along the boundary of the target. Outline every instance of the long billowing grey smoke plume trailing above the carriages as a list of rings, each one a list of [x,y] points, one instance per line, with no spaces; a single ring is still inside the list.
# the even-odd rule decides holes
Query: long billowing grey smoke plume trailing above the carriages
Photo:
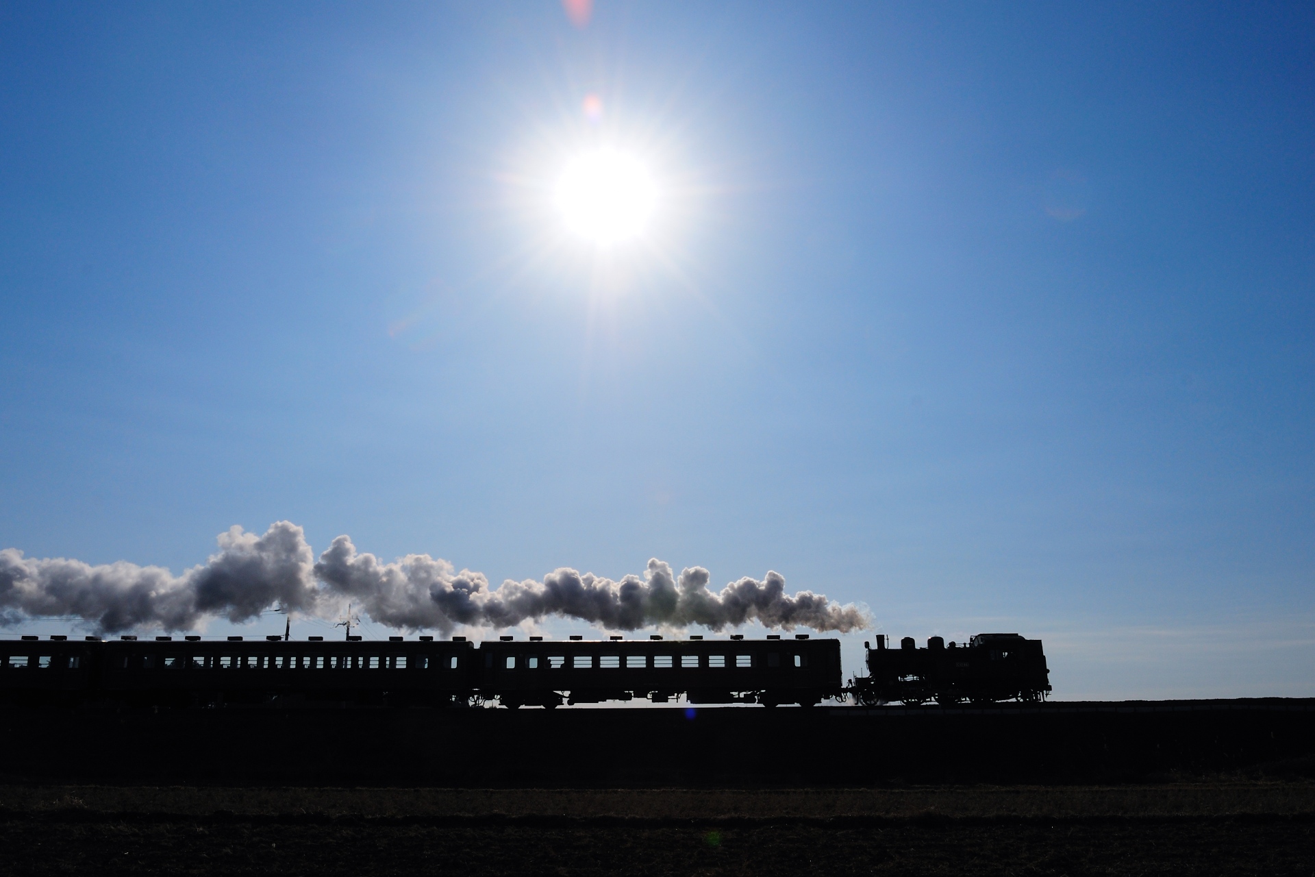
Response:
[[[72,615],[105,631],[137,627],[189,630],[209,617],[250,621],[274,605],[329,615],[351,601],[371,619],[405,630],[451,632],[459,626],[513,627],[548,617],[577,618],[608,630],[685,627],[711,630],[759,622],[767,627],[860,630],[863,610],[823,594],[785,593],[785,579],[740,579],[714,593],[706,569],[672,575],[650,560],[644,575],[619,581],[558,569],[542,581],[504,581],[489,588],[483,573],[458,572],[446,560],[406,555],[383,563],[338,536],[313,561],[301,527],[280,521],[263,536],[233,527],[220,551],[181,576],[160,567],[26,559],[0,551],[0,623],[25,615]]]

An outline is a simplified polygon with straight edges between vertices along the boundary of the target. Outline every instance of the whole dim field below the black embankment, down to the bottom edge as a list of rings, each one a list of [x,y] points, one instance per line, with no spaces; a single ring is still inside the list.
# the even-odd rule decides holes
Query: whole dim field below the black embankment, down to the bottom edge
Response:
[[[1315,874],[1315,784],[0,788],[7,874]]]

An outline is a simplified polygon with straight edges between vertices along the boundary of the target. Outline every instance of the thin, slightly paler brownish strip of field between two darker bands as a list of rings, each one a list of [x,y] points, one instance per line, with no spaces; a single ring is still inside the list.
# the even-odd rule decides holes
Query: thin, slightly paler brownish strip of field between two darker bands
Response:
[[[9,819],[1069,819],[1315,817],[1315,782],[907,789],[316,789],[0,785]]]

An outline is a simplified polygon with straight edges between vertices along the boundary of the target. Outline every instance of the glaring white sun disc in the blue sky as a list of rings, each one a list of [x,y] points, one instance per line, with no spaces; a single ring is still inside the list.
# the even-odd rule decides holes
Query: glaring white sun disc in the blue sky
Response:
[[[558,179],[556,204],[567,226],[597,243],[636,237],[658,202],[658,187],[634,156],[611,149],[579,155]]]

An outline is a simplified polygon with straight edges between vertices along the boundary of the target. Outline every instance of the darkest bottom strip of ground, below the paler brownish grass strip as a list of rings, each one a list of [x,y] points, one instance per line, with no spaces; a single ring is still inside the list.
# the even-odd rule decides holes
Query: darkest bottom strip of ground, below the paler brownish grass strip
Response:
[[[1310,818],[11,820],[12,874],[1311,874]]]

